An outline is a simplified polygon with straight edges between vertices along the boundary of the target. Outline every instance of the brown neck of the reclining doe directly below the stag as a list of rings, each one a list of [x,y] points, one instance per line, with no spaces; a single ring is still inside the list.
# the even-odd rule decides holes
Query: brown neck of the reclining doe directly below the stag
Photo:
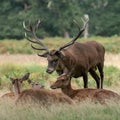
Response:
[[[68,86],[66,86],[65,88],[61,88],[62,92],[66,95],[68,95],[69,97],[73,98],[74,94],[75,94],[75,90],[72,89],[71,84],[69,83]]]

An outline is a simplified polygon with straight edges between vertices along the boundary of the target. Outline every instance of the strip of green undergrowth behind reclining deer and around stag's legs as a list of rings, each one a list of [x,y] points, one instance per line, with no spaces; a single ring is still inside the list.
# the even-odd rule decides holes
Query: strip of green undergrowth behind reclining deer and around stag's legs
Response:
[[[16,64],[3,64],[0,65],[0,88],[8,87],[10,85],[9,78],[22,77],[26,72],[30,72],[30,79],[33,81],[40,81],[42,84],[49,86],[50,81],[55,81],[57,78],[56,72],[49,75],[45,72],[46,66],[38,64],[16,65]],[[120,69],[113,66],[105,66],[104,86],[114,87],[120,86]],[[97,71],[98,72],[98,71]],[[98,73],[99,74],[99,73]],[[81,78],[72,79],[72,82],[77,86],[83,88],[83,80]],[[96,87],[95,80],[89,75],[89,87]]]

